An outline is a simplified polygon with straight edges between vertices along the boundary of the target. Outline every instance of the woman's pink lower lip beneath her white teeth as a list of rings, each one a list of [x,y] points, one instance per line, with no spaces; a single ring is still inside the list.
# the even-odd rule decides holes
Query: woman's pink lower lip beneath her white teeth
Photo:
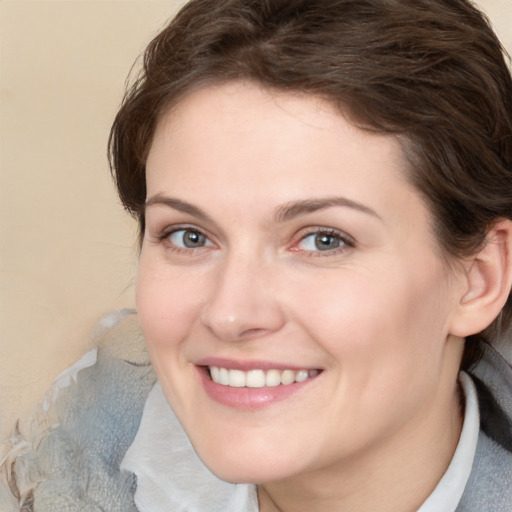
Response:
[[[286,400],[318,378],[318,376],[315,376],[303,382],[272,387],[235,388],[214,382],[208,369],[204,366],[198,366],[197,368],[203,387],[210,398],[222,405],[245,411],[254,411]]]

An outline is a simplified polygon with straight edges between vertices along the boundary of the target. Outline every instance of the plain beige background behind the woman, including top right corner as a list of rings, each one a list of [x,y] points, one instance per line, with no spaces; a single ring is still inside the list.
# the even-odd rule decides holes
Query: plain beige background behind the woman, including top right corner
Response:
[[[133,306],[135,224],[106,141],[125,77],[182,1],[0,0],[0,436]],[[512,0],[479,2],[512,49]]]

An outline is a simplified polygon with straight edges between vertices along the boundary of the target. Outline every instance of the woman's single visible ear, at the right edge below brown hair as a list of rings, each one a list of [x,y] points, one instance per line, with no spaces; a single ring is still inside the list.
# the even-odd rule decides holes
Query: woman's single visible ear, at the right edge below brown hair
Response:
[[[450,333],[466,337],[499,315],[512,286],[512,222],[502,219],[487,233],[485,247],[465,263],[464,287]]]

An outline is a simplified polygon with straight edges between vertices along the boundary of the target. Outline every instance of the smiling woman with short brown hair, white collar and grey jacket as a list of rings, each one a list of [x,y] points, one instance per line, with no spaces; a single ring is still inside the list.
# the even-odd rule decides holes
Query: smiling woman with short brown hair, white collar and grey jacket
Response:
[[[83,364],[10,460],[25,509],[512,508],[512,81],[474,6],[193,0],[110,150],[158,384]]]

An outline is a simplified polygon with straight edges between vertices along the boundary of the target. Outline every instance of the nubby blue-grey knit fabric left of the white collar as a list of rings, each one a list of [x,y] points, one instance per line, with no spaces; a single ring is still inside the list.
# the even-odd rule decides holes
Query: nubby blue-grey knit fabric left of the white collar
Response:
[[[59,400],[59,416],[66,421],[37,452],[16,463],[17,472],[24,473],[25,466],[44,475],[34,495],[35,510],[136,511],[134,477],[117,468],[137,433],[154,382],[149,367],[101,351],[97,364],[80,372],[77,386]]]

